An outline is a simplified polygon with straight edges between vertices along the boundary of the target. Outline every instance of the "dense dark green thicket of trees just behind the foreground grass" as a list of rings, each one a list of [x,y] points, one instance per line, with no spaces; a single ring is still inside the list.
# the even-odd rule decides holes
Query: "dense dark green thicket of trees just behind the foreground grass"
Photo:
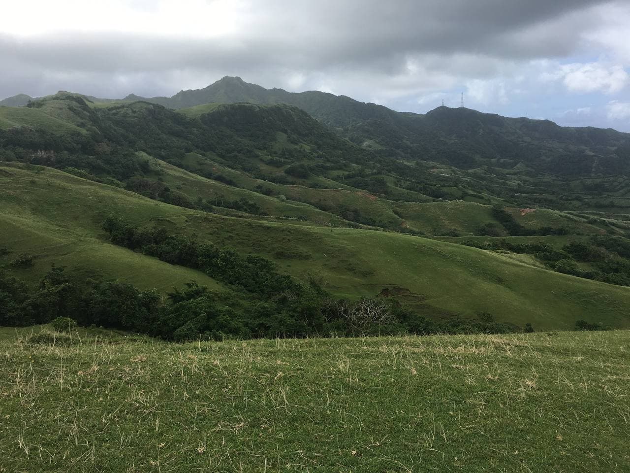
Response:
[[[204,254],[199,258],[205,257],[207,265],[210,258],[205,250],[201,249]],[[190,253],[189,247],[186,254]],[[479,314],[476,321],[434,322],[418,317],[391,298],[335,300],[313,278],[301,285],[290,277],[273,274],[273,270],[272,274],[264,272],[261,266],[270,264],[260,257],[242,258],[233,251],[217,253],[209,271],[238,284],[234,292],[210,291],[192,282],[165,298],[156,289],[142,291],[132,284],[93,279],[79,283],[68,277],[63,267],[52,267],[31,292],[25,283],[0,271],[0,326],[49,322],[57,327],[98,325],[171,341],[520,330],[495,322],[488,313]],[[273,287],[281,282],[285,284]]]

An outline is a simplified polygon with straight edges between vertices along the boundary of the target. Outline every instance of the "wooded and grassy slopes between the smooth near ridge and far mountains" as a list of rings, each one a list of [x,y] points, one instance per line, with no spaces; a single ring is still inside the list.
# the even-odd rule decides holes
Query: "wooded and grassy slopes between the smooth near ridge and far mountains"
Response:
[[[592,238],[627,236],[630,221],[623,215],[506,209],[498,196],[511,200],[522,195],[518,190],[545,189],[540,182],[505,176],[495,176],[501,185],[488,185],[481,174],[379,156],[340,138],[299,108],[237,103],[181,114],[147,102],[94,107],[83,97],[59,93],[31,108],[1,110],[24,123],[0,129],[0,157],[9,161],[52,166],[215,214],[412,235],[492,237],[483,248],[517,252],[517,260],[525,254],[534,266],[574,276],[630,284],[629,255],[617,250],[624,245]],[[530,240],[514,247],[501,240],[509,236]],[[590,253],[598,256],[593,260],[573,247],[579,254],[567,253],[563,245],[574,242],[596,245]]]

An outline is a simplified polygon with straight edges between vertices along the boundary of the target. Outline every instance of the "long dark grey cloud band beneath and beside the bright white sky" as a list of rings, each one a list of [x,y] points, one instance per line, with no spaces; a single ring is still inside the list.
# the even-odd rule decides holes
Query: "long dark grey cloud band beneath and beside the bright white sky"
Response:
[[[0,60],[43,67],[161,70],[286,64],[329,67],[396,63],[406,54],[467,52],[505,58],[570,54],[592,1],[276,1],[253,3],[237,33],[222,38],[69,32],[0,37]],[[193,14],[193,13],[192,13]],[[561,25],[554,21],[566,18]],[[551,27],[529,35],[530,28]],[[207,67],[207,66],[206,66]]]

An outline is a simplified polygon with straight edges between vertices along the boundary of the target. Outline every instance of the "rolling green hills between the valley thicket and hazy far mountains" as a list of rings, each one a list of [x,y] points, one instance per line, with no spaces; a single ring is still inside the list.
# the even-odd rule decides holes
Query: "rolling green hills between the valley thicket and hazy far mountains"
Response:
[[[78,279],[163,292],[193,279],[234,289],[226,286],[232,276],[197,271],[198,258],[183,267],[163,253],[148,257],[161,254],[158,243],[112,245],[108,238],[116,238],[101,230],[111,214],[139,231],[159,226],[233,248],[243,261],[265,257],[337,298],[389,295],[430,320],[489,313],[510,327],[630,325],[626,217],[505,205],[549,189],[559,197],[559,177],[486,182],[488,170],[400,160],[289,105],[176,112],[148,102],[95,107],[59,93],[0,112],[13,120],[0,129],[0,248],[7,248],[0,265],[31,287],[55,263]],[[474,134],[475,117],[453,132]],[[123,248],[128,243],[136,252]],[[31,269],[12,266],[21,254],[34,257]]]

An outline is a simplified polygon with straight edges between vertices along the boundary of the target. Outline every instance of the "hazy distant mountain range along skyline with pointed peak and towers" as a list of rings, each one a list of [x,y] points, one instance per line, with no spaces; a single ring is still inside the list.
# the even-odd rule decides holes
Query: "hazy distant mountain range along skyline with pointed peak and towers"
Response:
[[[507,118],[469,108],[438,107],[427,114],[396,112],[347,96],[265,89],[229,76],[172,97],[131,94],[122,100],[84,98],[92,102],[144,101],[173,109],[202,107],[200,113],[208,103],[287,104],[301,108],[364,149],[401,160],[436,161],[462,169],[489,164],[520,166],[533,173],[568,176],[630,173],[630,134],[561,127],[549,120]],[[0,105],[15,107],[26,105],[28,100],[33,98],[16,95]]]

